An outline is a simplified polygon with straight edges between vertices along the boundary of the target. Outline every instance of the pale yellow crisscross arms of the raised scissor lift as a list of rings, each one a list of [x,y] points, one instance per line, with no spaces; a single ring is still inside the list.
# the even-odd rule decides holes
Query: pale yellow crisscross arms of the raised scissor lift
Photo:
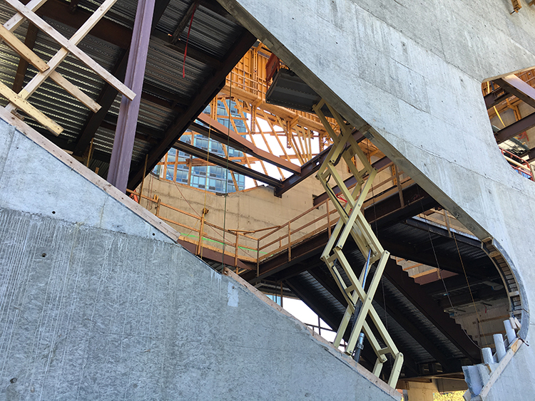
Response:
[[[324,105],[327,105],[327,108],[336,120],[338,127],[340,127],[339,134],[332,129],[332,125],[322,113],[321,109]],[[352,355],[359,334],[364,332],[377,356],[377,361],[373,368],[374,375],[379,376],[381,373],[382,366],[387,361],[387,354],[392,355],[392,358],[394,358],[394,364],[392,365],[392,372],[390,373],[388,384],[395,387],[403,364],[403,354],[397,349],[387,328],[382,323],[377,311],[375,311],[375,308],[372,305],[373,297],[377,291],[379,282],[381,281],[382,272],[384,271],[384,266],[386,266],[390,254],[383,249],[362,212],[362,205],[372,188],[372,183],[377,175],[377,170],[372,167],[367,156],[362,152],[362,149],[353,138],[352,135],[355,127],[352,127],[352,125],[345,122],[340,114],[337,113],[331,105],[326,103],[325,100],[321,100],[320,103],[317,103],[317,105],[314,106],[314,110],[320,121],[325,125],[325,131],[330,135],[333,143],[332,148],[325,158],[325,161],[322,163],[320,170],[317,172],[316,177],[320,180],[322,186],[325,188],[325,192],[327,192],[332,201],[332,204],[334,204],[335,209],[338,214],[340,214],[340,219],[338,219],[335,229],[332,230],[330,239],[327,241],[327,245],[321,256],[322,261],[327,264],[327,268],[333,278],[335,278],[338,288],[340,288],[340,291],[342,291],[342,294],[347,301],[347,309],[340,322],[340,327],[337,330],[333,345],[335,345],[335,347],[340,346],[342,338],[352,322],[355,312],[358,310],[358,314],[355,316],[352,324],[350,338],[347,341],[345,352]],[[362,130],[365,132],[370,129],[371,127],[369,125],[365,125],[365,127],[361,129],[361,132]],[[347,188],[340,172],[338,172],[336,168],[337,161],[341,158],[347,162],[350,172],[357,179],[355,189],[350,190]],[[358,159],[364,166],[362,170],[357,169],[357,166],[353,162],[355,159]],[[342,197],[347,202],[345,205],[342,205],[340,198],[337,197],[332,190],[329,184],[331,178],[334,180],[335,184],[337,184]],[[357,244],[363,256],[370,254],[370,265],[377,264],[373,274],[370,273],[372,278],[367,292],[365,291],[364,269],[362,269],[360,276],[357,277],[357,274],[355,274],[350,262],[347,261],[343,251],[345,242],[350,235],[355,240],[355,244]],[[371,270],[370,266],[370,271]],[[344,273],[343,275],[342,271]],[[357,308],[357,303],[360,303],[360,309]],[[379,344],[379,340],[374,335],[372,328],[370,328],[370,323],[377,329],[384,346]]]

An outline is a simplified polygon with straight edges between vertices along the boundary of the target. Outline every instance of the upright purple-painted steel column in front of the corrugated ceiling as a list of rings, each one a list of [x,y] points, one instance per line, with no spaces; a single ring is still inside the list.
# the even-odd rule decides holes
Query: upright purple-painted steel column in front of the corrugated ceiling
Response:
[[[136,126],[138,125],[139,105],[141,103],[141,91],[143,90],[143,78],[145,76],[148,42],[151,38],[155,2],[156,0],[138,1],[125,78],[125,84],[136,93],[136,98],[128,100],[123,96],[121,99],[113,150],[111,151],[108,182],[122,192],[126,192],[133,144],[136,139]]]

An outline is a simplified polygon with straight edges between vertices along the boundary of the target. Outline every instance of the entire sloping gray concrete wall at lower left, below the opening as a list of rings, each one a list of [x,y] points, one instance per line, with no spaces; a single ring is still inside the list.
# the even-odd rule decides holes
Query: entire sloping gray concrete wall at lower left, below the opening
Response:
[[[399,400],[3,123],[0,144],[0,400]]]

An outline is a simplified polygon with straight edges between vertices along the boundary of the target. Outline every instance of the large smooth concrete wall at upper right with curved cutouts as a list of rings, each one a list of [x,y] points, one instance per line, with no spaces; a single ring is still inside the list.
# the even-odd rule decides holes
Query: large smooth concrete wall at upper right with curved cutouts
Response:
[[[480,239],[501,245],[533,337],[535,185],[501,157],[481,82],[535,66],[535,9],[506,0],[219,0]],[[535,391],[533,348],[506,368]],[[496,385],[498,388],[498,385]],[[490,397],[499,399],[499,394]]]

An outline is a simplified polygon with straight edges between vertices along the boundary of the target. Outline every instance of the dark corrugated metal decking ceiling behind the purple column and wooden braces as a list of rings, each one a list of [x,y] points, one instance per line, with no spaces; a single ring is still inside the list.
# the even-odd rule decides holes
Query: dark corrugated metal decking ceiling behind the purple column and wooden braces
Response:
[[[140,165],[143,164],[148,153],[153,160],[158,162],[158,157],[162,153],[158,150],[158,155],[155,155],[158,145],[162,142],[169,142],[165,145],[163,151],[165,154],[171,147],[171,142],[175,142],[168,137],[168,131],[170,127],[173,127],[173,123],[180,120],[182,115],[193,116],[186,118],[187,121],[182,123],[178,130],[173,131],[172,135],[178,137],[183,130],[188,128],[189,121],[196,117],[197,112],[203,109],[203,105],[207,104],[218,92],[218,85],[224,83],[226,72],[230,71],[235,64],[228,59],[228,53],[232,53],[236,42],[247,36],[246,41],[250,43],[243,46],[245,51],[254,43],[254,38],[237,24],[216,1],[200,1],[191,26],[188,53],[185,58],[185,78],[183,78],[183,48],[188,29],[180,33],[180,38],[175,44],[170,43],[170,39],[191,3],[192,1],[180,0],[156,1],[156,9],[158,6],[165,6],[165,11],[161,14],[156,28],[153,29],[149,44],[143,94],[140,94],[142,99],[131,175],[135,175],[140,170]],[[68,38],[100,4],[101,1],[81,0],[71,9],[71,4],[66,1],[49,0],[41,6],[38,14]],[[136,5],[136,1],[118,0],[111,11],[104,16],[103,21],[97,24],[96,28],[93,28],[93,31],[78,45],[82,51],[112,73],[118,69],[129,46]],[[0,5],[2,23],[14,14],[14,10],[6,4]],[[15,31],[16,36],[23,41],[28,25],[28,22],[25,22]],[[48,61],[58,49],[58,43],[39,31],[34,51],[41,58]],[[236,57],[236,55],[233,56]],[[241,55],[238,55],[238,60],[240,57]],[[9,46],[2,44],[0,47],[2,67],[0,80],[9,87],[14,83],[18,64],[19,56]],[[106,84],[77,58],[69,55],[57,71],[99,102]],[[36,70],[29,66],[23,87],[35,73]],[[212,78],[217,74],[222,78],[220,82],[215,83]],[[207,83],[211,85],[209,88],[206,88]],[[202,99],[199,98],[200,93],[202,93]],[[49,79],[31,96],[29,101],[60,124],[64,131],[59,137],[54,137],[31,118],[26,117],[25,120],[56,145],[78,156],[87,151],[88,143],[94,137],[93,158],[89,167],[91,170],[99,167],[99,174],[106,177],[121,96],[115,95],[112,100],[107,113],[103,115],[96,129],[93,129],[94,132],[84,133],[91,118],[94,117],[93,113]],[[0,104],[6,105],[6,100],[2,99]],[[196,109],[190,110],[193,106],[196,106]],[[84,135],[82,141],[84,143],[78,145],[82,140],[82,135]],[[150,168],[151,166],[149,166],[149,171]],[[131,187],[133,185],[135,184],[132,182]]]

